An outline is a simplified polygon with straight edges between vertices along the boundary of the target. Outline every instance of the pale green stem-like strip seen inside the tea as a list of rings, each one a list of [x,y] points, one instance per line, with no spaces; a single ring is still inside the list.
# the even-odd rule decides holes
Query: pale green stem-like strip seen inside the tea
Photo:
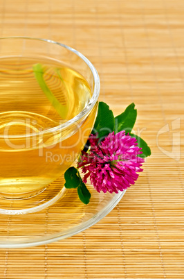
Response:
[[[53,105],[55,110],[59,113],[59,115],[62,117],[62,119],[66,119],[67,113],[68,113],[68,105],[62,105],[53,92],[50,91],[48,86],[46,85],[46,82],[44,81],[44,69],[42,67],[42,64],[35,64],[33,65],[33,71],[35,74],[35,78],[37,79],[37,83],[41,87],[44,94],[46,94],[48,100]],[[59,76],[61,78],[61,76]]]

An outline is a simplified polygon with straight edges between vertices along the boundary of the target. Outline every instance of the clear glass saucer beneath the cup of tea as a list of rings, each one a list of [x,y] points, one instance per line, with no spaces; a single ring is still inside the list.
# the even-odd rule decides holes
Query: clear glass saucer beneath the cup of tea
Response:
[[[65,189],[63,185],[64,178],[55,181],[55,191],[60,187],[62,194],[55,203],[50,206],[48,204],[47,208],[36,212],[23,212],[24,214],[0,214],[0,248],[37,246],[71,237],[105,217],[126,192],[99,194],[93,186],[87,184],[91,201],[89,205],[84,205],[77,196],[77,189]],[[11,210],[15,203],[3,199],[1,202],[7,210]],[[17,203],[18,212],[19,207],[24,205],[21,203],[24,203],[24,200]]]

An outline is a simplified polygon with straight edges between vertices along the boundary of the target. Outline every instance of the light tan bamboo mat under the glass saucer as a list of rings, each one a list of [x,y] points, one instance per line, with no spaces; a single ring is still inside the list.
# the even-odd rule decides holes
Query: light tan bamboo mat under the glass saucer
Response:
[[[0,278],[184,278],[184,1],[0,0],[0,35],[57,40],[98,69],[115,115],[134,101],[152,150],[136,186],[92,228],[0,250]]]

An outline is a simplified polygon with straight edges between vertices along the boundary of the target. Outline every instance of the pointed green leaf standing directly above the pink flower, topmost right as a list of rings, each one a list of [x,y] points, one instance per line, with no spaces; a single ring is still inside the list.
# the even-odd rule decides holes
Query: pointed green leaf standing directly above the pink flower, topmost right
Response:
[[[116,133],[121,130],[125,130],[126,134],[130,133],[137,118],[137,110],[135,109],[135,104],[131,103],[125,112],[122,112],[121,115],[115,117]]]

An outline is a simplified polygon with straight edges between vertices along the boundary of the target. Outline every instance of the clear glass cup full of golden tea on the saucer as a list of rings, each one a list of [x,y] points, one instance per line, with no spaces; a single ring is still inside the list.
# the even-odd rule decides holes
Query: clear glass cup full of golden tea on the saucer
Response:
[[[60,177],[75,162],[91,133],[100,78],[81,53],[51,40],[1,38],[0,59],[0,213],[24,214],[64,196]],[[58,75],[50,72],[53,67],[59,69]],[[65,69],[68,74],[63,78]],[[85,92],[91,92],[89,99]],[[6,200],[12,201],[11,208]]]

